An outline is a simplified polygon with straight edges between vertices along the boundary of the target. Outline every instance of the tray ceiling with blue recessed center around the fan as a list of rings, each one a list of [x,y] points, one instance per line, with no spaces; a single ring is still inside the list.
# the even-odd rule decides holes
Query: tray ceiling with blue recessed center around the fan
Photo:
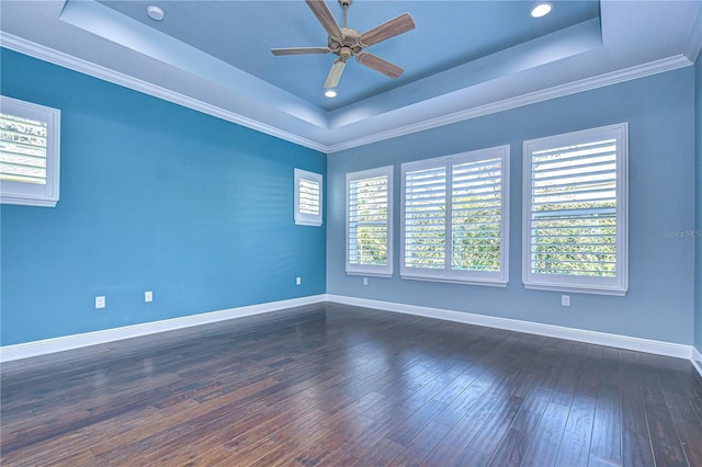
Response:
[[[701,0],[552,0],[544,19],[534,3],[355,0],[361,32],[404,12],[417,29],[369,48],[399,79],[350,62],[333,100],[333,55],[269,52],[326,46],[298,0],[2,0],[0,42],[325,152],[688,66],[702,47]]]

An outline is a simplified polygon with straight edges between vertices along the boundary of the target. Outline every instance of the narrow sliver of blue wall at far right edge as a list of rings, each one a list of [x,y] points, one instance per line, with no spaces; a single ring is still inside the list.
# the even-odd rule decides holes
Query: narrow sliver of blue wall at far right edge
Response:
[[[702,54],[694,64],[694,110],[697,152],[697,239],[694,273],[694,346],[702,353]]]

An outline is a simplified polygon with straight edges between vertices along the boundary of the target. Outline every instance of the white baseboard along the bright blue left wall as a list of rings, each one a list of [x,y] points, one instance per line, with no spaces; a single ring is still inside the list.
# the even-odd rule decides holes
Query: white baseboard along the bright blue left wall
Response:
[[[250,305],[246,307],[230,308],[219,311],[204,312],[200,315],[190,315],[161,321],[125,326],[122,328],[105,329],[103,331],[87,332],[82,334],[26,342],[22,344],[5,345],[0,346],[0,363],[29,358],[32,356],[45,355],[55,352],[63,352],[67,350],[80,349],[89,345],[104,344],[123,339],[138,338],[140,335],[156,334],[158,332],[190,328],[193,326],[224,321],[233,318],[241,318],[250,315],[278,311],[285,308],[293,308],[303,305],[317,304],[320,301],[325,301],[325,295],[313,295],[309,297],[269,301],[260,305]]]

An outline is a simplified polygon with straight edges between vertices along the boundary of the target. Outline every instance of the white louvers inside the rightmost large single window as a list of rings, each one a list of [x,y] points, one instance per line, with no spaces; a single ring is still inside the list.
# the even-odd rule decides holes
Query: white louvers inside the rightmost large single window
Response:
[[[530,270],[616,275],[616,139],[531,156]]]

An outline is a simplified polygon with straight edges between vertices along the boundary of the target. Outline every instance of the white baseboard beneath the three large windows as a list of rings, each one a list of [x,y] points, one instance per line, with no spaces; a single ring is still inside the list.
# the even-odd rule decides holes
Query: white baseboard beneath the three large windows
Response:
[[[342,295],[327,294],[327,300],[343,305],[354,305],[359,307],[375,308],[385,311],[395,311],[407,315],[423,316],[427,318],[444,319],[448,321],[463,322],[467,324],[506,329],[508,331],[525,332],[528,334],[545,335],[556,339],[566,339],[570,341],[586,342],[589,344],[598,344],[626,349],[636,352],[673,356],[677,358],[686,358],[690,361],[692,358],[692,349],[694,349],[691,345],[676,344],[672,342],[654,341],[650,339],[610,334],[607,332],[588,331],[585,329],[566,328],[563,326],[543,324],[540,322],[521,321],[511,318],[499,318],[487,315],[453,311],[442,308],[428,308],[416,305],[372,300],[367,298],[354,298]]]

